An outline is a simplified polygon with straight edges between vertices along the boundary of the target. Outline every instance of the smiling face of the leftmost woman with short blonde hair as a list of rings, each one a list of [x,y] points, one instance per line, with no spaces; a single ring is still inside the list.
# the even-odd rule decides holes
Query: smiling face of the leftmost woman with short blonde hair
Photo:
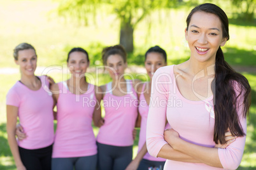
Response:
[[[23,49],[18,51],[18,58],[15,60],[17,65],[20,65],[22,75],[34,75],[36,70],[37,56],[34,49]]]

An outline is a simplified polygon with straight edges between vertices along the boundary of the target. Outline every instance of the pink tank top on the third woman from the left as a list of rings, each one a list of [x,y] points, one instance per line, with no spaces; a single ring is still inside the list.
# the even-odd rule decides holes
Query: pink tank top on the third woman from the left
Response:
[[[105,109],[104,125],[99,128],[97,142],[117,147],[133,145],[132,131],[138,117],[138,97],[131,81],[127,81],[124,96],[111,94],[111,82],[106,84],[106,95],[103,98]]]

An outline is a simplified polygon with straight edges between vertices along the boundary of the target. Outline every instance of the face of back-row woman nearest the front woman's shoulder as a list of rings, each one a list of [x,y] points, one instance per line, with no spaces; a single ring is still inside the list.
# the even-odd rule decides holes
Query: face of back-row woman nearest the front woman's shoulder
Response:
[[[163,66],[166,66],[166,62],[161,53],[151,52],[146,55],[145,68],[150,79],[152,79],[155,71]]]

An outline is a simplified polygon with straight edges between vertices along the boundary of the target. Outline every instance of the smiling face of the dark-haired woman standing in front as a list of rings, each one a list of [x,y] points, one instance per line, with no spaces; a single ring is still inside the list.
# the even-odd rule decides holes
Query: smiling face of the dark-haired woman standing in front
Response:
[[[217,15],[197,11],[191,17],[185,37],[191,51],[191,58],[198,62],[215,63],[219,46],[224,46],[227,38],[222,36],[222,23]]]

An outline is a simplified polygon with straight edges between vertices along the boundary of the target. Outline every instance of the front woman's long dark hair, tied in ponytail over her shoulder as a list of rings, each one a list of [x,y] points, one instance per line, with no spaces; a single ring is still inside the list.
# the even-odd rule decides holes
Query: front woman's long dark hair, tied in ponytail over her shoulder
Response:
[[[229,40],[229,20],[225,12],[215,4],[196,6],[187,17],[187,29],[192,15],[197,11],[213,13],[222,23],[222,37]],[[233,136],[244,136],[239,116],[246,117],[250,107],[250,85],[247,79],[232,69],[224,60],[222,49],[219,47],[215,59],[215,79],[211,83],[215,112],[215,127],[213,140],[215,143],[225,143],[225,132],[229,129]],[[238,108],[243,107],[239,115]]]

